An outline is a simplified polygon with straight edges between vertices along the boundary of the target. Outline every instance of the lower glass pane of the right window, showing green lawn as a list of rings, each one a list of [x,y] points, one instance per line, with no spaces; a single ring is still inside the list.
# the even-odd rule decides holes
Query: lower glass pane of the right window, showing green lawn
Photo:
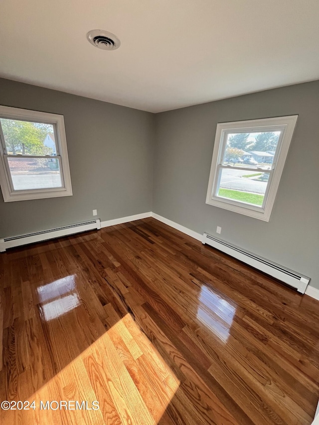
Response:
[[[217,196],[259,206],[263,204],[269,173],[221,168]]]

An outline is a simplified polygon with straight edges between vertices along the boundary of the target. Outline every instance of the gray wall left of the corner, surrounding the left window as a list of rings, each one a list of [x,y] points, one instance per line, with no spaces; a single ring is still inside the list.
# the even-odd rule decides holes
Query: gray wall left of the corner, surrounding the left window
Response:
[[[3,202],[0,237],[152,210],[154,115],[0,79],[0,104],[64,115],[73,196]],[[0,192],[1,193],[1,192]]]

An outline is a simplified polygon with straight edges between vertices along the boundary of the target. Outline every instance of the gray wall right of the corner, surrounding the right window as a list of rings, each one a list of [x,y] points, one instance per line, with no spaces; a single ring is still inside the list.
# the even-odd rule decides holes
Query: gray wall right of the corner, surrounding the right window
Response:
[[[298,114],[270,221],[205,204],[217,123]],[[153,211],[312,278],[319,288],[319,81],[156,115]]]

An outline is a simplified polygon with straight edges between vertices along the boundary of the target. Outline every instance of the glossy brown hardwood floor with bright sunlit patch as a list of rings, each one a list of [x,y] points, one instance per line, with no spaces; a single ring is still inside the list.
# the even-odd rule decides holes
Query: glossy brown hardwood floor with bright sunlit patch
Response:
[[[319,301],[153,218],[1,254],[0,341],[0,401],[34,401],[6,425],[306,425],[319,398]]]

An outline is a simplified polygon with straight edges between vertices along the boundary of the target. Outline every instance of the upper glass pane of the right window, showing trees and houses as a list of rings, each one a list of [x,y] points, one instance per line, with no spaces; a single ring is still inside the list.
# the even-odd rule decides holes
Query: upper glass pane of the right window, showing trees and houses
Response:
[[[223,165],[270,169],[280,132],[232,133],[227,135]]]

